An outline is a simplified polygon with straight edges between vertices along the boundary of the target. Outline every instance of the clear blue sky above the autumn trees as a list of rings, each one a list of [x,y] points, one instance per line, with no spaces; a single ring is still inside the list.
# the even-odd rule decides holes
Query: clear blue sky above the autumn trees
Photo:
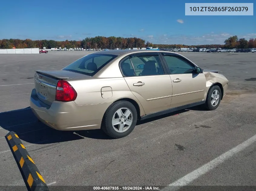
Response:
[[[194,1],[203,2],[241,3]],[[232,35],[256,38],[255,6],[254,16],[185,16],[185,1],[2,1],[0,39],[82,40],[99,35],[163,44],[223,44]]]

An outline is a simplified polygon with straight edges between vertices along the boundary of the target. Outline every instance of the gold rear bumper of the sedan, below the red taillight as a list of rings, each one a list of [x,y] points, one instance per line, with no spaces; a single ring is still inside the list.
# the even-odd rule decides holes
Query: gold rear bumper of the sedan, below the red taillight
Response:
[[[51,106],[38,99],[35,89],[30,97],[30,107],[37,118],[57,130],[74,131],[100,129],[106,109],[111,103],[78,106],[75,102],[54,101]]]

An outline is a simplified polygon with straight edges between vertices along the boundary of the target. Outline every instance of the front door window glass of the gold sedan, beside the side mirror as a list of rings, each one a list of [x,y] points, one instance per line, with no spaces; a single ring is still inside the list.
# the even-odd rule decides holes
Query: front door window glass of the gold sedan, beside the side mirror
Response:
[[[164,58],[171,74],[192,74],[196,70],[195,66],[180,57],[165,55]]]

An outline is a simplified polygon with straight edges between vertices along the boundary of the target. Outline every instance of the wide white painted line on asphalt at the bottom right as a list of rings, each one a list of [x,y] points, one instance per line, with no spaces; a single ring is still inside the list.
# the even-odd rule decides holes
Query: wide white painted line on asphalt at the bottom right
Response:
[[[202,176],[203,174],[207,173],[208,171],[210,171],[214,167],[223,163],[225,160],[231,158],[234,154],[244,150],[246,147],[250,146],[255,141],[256,141],[256,135],[247,139],[246,141],[244,141],[240,145],[232,148],[231,150],[225,152],[224,154],[221,154],[217,158],[213,159],[212,161],[208,162],[207,164],[204,164],[203,166],[199,167],[198,169],[194,170],[193,172],[188,173],[184,177],[182,177],[182,178],[176,180],[175,182],[169,184],[168,186],[186,186],[186,185],[188,185],[189,183],[191,183],[192,181],[194,181],[198,177]],[[173,187],[169,187],[169,189],[168,188],[167,189],[165,188],[165,189],[166,190],[179,189],[177,187],[175,187],[175,189],[172,189],[172,188]]]

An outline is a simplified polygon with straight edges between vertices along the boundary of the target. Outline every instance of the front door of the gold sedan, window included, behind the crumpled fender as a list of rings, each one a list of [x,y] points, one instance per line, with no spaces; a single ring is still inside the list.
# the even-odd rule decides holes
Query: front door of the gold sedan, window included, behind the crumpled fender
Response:
[[[171,107],[202,101],[206,87],[203,73],[196,73],[197,66],[183,56],[162,53],[172,81]]]

